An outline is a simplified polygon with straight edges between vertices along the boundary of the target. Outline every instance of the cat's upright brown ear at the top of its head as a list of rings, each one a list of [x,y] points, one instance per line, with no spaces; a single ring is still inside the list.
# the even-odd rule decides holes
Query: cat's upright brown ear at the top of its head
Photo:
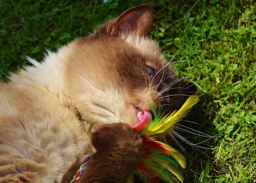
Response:
[[[140,5],[123,12],[106,29],[110,35],[135,32],[139,36],[145,36],[150,30],[153,20],[153,9],[150,5]]]

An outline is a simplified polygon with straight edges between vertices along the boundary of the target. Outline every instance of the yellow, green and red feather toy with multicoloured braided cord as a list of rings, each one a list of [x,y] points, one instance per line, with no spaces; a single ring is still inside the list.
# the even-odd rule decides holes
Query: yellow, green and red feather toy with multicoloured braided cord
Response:
[[[161,119],[151,107],[154,120],[148,124],[150,120],[145,120],[147,122],[142,121],[133,127],[143,140],[144,150],[137,166],[137,174],[143,182],[183,182],[182,170],[186,167],[185,157],[175,148],[157,139],[166,133],[171,133],[174,124],[181,120],[198,101],[197,96],[190,96],[178,111],[169,113]],[[76,177],[80,176],[78,170],[71,182],[76,182]]]

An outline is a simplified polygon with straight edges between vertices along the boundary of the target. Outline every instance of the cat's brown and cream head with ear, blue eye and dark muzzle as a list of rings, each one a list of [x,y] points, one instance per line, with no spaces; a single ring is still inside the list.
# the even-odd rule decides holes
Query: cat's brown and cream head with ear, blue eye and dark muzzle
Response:
[[[133,126],[150,103],[177,109],[195,91],[146,37],[152,20],[150,6],[137,6],[68,45],[66,92],[87,122]]]

